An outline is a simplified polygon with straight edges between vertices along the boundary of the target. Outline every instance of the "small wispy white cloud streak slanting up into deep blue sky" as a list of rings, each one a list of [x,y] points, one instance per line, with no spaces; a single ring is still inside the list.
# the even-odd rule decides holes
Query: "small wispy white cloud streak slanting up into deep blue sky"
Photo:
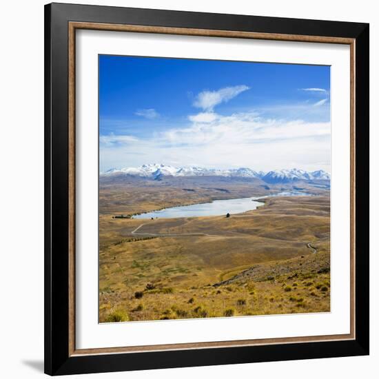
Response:
[[[235,85],[234,87],[221,88],[218,91],[203,91],[196,96],[194,106],[212,112],[216,105],[226,103],[246,90],[249,90],[247,85]]]

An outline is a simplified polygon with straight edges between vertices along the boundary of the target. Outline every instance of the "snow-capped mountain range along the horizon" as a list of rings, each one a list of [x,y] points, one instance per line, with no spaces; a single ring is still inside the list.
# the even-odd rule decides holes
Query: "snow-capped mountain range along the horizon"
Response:
[[[101,173],[101,176],[137,176],[154,180],[161,180],[163,176],[224,176],[229,178],[258,178],[272,184],[291,183],[294,181],[330,181],[330,175],[323,170],[308,172],[293,168],[291,170],[256,172],[247,167],[218,170],[204,167],[174,167],[161,163],[111,169]]]

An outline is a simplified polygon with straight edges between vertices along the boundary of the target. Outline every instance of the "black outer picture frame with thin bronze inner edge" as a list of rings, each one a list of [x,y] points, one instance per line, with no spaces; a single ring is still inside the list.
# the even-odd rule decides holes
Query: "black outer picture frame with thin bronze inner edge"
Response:
[[[355,39],[356,338],[70,356],[68,23],[130,24]],[[45,6],[45,373],[63,375],[369,354],[369,25],[52,3]]]

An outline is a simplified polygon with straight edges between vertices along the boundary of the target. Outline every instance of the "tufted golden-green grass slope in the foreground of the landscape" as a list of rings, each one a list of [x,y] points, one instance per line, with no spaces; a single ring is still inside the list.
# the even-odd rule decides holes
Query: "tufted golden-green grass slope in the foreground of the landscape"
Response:
[[[277,275],[280,265],[289,265],[294,271]],[[152,289],[126,291],[123,296],[104,291],[101,293],[100,320],[114,321],[114,314],[119,315],[120,309],[125,312],[125,319],[120,321],[329,311],[328,254],[257,267],[260,277],[247,276],[217,287],[203,285],[176,289],[153,285]]]

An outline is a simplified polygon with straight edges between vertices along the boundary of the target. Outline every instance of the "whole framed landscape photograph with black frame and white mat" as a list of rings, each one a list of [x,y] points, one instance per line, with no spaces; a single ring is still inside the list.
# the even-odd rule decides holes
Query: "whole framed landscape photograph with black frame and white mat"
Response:
[[[369,25],[45,6],[45,372],[369,354]]]

